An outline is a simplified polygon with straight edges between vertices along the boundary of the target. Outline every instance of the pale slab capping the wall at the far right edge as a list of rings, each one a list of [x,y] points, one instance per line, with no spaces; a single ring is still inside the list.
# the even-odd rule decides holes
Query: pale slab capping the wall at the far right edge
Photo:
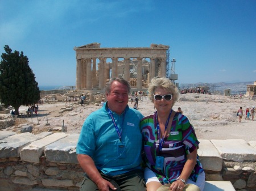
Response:
[[[249,146],[242,139],[213,139],[211,142],[225,160],[233,160],[234,162],[256,161],[256,148]]]

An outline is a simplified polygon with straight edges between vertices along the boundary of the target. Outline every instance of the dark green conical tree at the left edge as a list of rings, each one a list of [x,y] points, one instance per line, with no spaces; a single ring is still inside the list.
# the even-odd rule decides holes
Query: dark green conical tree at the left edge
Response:
[[[40,90],[35,75],[28,65],[23,52],[12,52],[4,46],[0,62],[0,100],[6,106],[13,106],[19,115],[20,105],[35,104],[40,99]]]

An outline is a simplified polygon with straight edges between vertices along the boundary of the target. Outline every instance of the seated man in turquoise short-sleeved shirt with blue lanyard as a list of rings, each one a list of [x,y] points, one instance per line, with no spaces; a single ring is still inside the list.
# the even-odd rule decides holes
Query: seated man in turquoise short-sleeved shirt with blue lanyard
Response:
[[[82,191],[146,191],[141,169],[143,115],[129,108],[129,83],[115,78],[106,84],[104,107],[91,113],[82,126],[77,159],[84,169]]]

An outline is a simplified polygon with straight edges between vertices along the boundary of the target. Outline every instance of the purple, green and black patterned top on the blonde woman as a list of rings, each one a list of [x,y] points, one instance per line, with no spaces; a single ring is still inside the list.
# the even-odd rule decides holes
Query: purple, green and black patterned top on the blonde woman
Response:
[[[181,113],[175,113],[171,124],[170,135],[164,138],[162,151],[159,152],[156,122],[156,112],[141,120],[141,131],[146,155],[145,162],[147,167],[155,172],[162,184],[168,184],[180,176],[187,160],[187,155],[199,146],[199,141],[188,118]],[[155,169],[156,155],[164,157],[162,171]],[[189,179],[196,182],[197,176],[203,171],[203,167],[197,156],[195,168]]]

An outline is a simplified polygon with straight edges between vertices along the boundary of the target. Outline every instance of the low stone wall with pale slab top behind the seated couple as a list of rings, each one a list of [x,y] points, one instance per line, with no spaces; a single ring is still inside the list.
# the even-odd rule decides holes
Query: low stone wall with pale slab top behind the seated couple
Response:
[[[0,131],[1,190],[79,190],[79,134]],[[200,139],[199,159],[208,181],[230,181],[236,190],[256,189],[256,141]],[[44,189],[42,189],[44,190]]]

